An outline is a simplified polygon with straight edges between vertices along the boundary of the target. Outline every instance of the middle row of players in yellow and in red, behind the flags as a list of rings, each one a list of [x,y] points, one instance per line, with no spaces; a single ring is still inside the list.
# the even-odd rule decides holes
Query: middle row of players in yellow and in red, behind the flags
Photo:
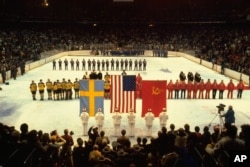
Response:
[[[136,95],[137,98],[141,98],[141,81],[142,78],[140,74],[136,77]],[[75,98],[79,98],[79,89],[80,83],[76,78],[74,82],[71,82],[70,79],[66,81],[65,79],[60,82],[59,80],[52,83],[49,79],[46,83],[40,80],[38,84],[34,82],[34,80],[30,84],[30,91],[32,94],[33,100],[36,100],[37,90],[40,94],[40,100],[44,100],[44,91],[45,87],[48,93],[48,100],[69,100],[72,99],[73,91],[75,91]],[[110,75],[106,73],[104,76],[104,98],[110,98]],[[224,92],[227,90],[227,98],[233,98],[233,92],[237,90],[237,98],[242,98],[242,93],[244,91],[245,85],[242,80],[235,85],[232,79],[229,83],[225,84],[223,80],[220,83],[217,83],[217,80],[214,79],[213,82],[210,79],[207,82],[204,82],[203,79],[200,82],[191,82],[188,81],[179,81],[176,80],[174,83],[170,80],[167,83],[167,91],[168,91],[168,99],[210,99],[210,95],[212,92],[212,99],[216,98],[217,92],[219,92],[219,99],[223,99]]]

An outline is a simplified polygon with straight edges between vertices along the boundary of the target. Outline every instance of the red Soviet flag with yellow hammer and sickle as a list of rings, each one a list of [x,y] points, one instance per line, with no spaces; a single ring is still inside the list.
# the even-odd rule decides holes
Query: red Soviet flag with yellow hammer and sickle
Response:
[[[142,81],[142,117],[149,108],[158,117],[162,108],[166,107],[166,83],[167,81]]]

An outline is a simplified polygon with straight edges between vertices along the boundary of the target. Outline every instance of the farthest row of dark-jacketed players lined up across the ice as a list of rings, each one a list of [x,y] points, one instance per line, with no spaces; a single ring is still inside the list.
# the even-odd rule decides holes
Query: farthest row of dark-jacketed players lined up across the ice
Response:
[[[64,65],[64,70],[69,70],[69,66],[71,70],[87,70],[87,71],[92,71],[92,70],[97,70],[97,71],[119,71],[119,70],[129,70],[129,71],[146,71],[147,68],[147,61],[146,59],[135,59],[134,61],[132,59],[106,59],[106,60],[100,60],[100,59],[88,59],[85,60],[84,58],[82,60],[76,59],[74,60],[71,58],[68,60],[65,58],[64,60],[59,59],[58,61],[53,60],[53,70],[63,70],[63,65]]]

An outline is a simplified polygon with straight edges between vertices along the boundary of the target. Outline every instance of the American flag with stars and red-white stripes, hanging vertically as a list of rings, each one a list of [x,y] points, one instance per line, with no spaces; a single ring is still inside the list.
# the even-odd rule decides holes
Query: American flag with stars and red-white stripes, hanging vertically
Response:
[[[115,108],[122,113],[126,113],[130,109],[136,111],[135,90],[135,75],[111,75],[110,112],[114,112]]]

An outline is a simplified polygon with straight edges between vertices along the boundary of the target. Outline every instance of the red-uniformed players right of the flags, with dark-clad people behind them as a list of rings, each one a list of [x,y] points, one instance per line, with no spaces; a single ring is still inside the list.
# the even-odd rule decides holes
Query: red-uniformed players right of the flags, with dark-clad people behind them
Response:
[[[186,81],[187,80],[187,81]],[[227,98],[233,98],[233,92],[237,90],[237,99],[242,98],[244,90],[244,83],[240,80],[237,84],[234,84],[232,79],[228,83],[224,83],[224,80],[217,82],[216,79],[211,81],[207,79],[204,81],[198,72],[193,75],[192,72],[188,72],[187,78],[183,71],[180,72],[179,80],[175,82],[169,80],[167,83],[168,99],[216,99],[217,92],[219,93],[219,99],[224,98],[224,92],[227,90]],[[212,92],[212,94],[211,94]],[[212,97],[211,97],[212,95]]]

